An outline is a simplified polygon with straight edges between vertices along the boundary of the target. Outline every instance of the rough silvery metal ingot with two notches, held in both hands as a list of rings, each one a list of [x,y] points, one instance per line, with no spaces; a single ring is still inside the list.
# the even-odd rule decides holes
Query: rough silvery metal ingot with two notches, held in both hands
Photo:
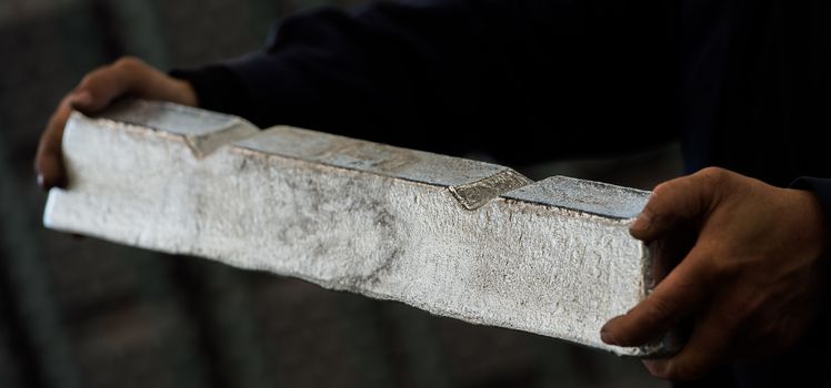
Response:
[[[48,227],[296,276],[468,321],[600,340],[648,293],[648,192],[146,101],[73,113]]]

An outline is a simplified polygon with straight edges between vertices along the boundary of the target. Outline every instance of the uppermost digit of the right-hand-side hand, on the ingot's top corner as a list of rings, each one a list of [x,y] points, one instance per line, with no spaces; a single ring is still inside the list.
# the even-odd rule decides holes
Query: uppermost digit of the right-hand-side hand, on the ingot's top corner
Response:
[[[638,239],[651,242],[681,221],[701,218],[717,201],[715,193],[722,175],[720,169],[704,169],[658,185],[630,227],[630,233]]]

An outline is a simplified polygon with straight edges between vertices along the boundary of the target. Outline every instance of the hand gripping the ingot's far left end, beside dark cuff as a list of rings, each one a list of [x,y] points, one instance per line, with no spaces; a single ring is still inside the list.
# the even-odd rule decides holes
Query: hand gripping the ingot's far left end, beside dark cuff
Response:
[[[90,72],[61,100],[40,136],[34,171],[41,188],[67,184],[61,139],[72,110],[94,113],[123,95],[197,105],[197,94],[188,81],[174,79],[136,58],[126,57]]]

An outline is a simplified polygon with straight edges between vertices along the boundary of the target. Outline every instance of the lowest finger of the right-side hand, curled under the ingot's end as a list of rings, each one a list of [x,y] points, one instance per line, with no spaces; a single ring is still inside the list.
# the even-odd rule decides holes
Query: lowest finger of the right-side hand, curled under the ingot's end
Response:
[[[722,305],[723,306],[723,305]],[[735,329],[729,312],[710,309],[697,324],[687,345],[670,358],[643,360],[650,374],[670,380],[690,380],[707,374],[727,358]]]

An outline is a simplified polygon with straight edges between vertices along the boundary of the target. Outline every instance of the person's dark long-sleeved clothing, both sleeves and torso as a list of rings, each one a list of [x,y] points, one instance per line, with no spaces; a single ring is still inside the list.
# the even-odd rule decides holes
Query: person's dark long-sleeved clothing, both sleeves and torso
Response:
[[[379,2],[287,19],[266,51],[173,75],[200,105],[507,163],[609,155],[680,139],[718,165],[812,190],[831,216],[831,3],[821,0]],[[829,221],[831,225],[831,219]],[[777,386],[831,366],[807,339],[723,386]],[[761,381],[750,379],[764,376]],[[778,376],[778,377],[777,377]],[[712,385],[708,386],[719,386]],[[759,385],[762,384],[762,385]],[[741,386],[741,385],[739,385]]]

